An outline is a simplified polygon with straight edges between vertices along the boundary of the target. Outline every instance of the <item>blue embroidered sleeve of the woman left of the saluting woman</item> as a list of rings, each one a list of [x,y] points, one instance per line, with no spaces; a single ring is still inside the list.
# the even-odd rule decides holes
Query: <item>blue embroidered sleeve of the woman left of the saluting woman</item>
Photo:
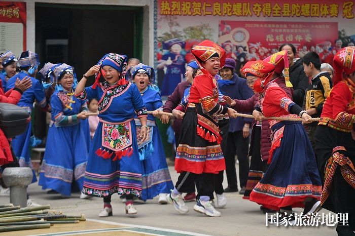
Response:
[[[76,125],[80,122],[77,115],[64,115],[63,105],[56,94],[51,97],[52,121],[56,127]]]

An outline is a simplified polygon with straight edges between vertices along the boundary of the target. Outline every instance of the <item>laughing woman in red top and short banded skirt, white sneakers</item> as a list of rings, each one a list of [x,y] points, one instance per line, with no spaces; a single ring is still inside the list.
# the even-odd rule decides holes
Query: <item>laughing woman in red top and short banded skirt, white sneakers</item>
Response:
[[[194,210],[218,217],[209,202],[214,192],[215,174],[226,169],[218,128],[219,115],[236,117],[237,112],[218,104],[218,87],[214,76],[224,66],[226,52],[216,43],[205,40],[191,49],[200,64],[202,74],[195,77],[185,111],[179,147],[176,149],[175,170],[180,173],[175,188],[168,195],[168,202],[176,211],[187,213],[182,192],[199,177],[200,199]]]

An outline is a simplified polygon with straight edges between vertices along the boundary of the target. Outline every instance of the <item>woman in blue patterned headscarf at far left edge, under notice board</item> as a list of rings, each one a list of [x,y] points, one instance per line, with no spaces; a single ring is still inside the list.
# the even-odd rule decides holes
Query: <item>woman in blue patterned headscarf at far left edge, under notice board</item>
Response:
[[[0,55],[0,57],[3,59],[2,64],[4,66],[4,68],[0,72],[0,78],[3,83],[3,90],[5,92],[6,84],[8,83],[9,78],[11,78],[17,73],[17,58],[15,54],[13,54],[11,51],[7,51],[6,53]]]

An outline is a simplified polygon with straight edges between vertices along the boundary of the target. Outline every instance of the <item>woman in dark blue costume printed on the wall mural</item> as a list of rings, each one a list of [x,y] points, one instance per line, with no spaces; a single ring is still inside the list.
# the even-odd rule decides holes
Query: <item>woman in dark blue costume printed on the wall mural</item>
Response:
[[[177,84],[183,81],[185,74],[185,57],[181,54],[185,48],[185,42],[179,38],[163,42],[163,49],[169,50],[159,61],[158,69],[166,66],[164,81],[161,88],[161,96],[168,96],[174,92]]]

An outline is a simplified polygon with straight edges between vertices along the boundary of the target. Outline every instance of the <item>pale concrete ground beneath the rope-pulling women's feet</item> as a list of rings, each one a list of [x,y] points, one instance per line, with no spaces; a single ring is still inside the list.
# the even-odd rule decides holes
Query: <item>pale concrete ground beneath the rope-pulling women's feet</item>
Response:
[[[236,168],[238,170],[238,167]],[[173,182],[177,180],[177,174],[173,166],[169,166]],[[223,185],[227,186],[225,178]],[[228,200],[227,207],[219,209],[221,217],[207,217],[193,210],[194,203],[187,203],[190,211],[186,215],[177,213],[172,205],[159,205],[158,200],[150,200],[147,203],[135,203],[138,214],[130,217],[125,214],[124,203],[117,194],[113,195],[113,216],[99,218],[97,215],[102,208],[102,199],[79,199],[80,193],[74,193],[68,199],[62,199],[59,195],[47,194],[38,183],[28,186],[30,198],[38,204],[50,204],[51,209],[60,210],[64,214],[85,214],[88,219],[111,221],[122,224],[158,227],[171,230],[194,232],[207,235],[336,235],[335,227],[328,226],[265,226],[265,214],[259,210],[259,206],[253,202],[243,200],[238,193],[225,193]],[[9,197],[1,196],[0,205],[9,203]],[[296,208],[295,211],[302,212]],[[328,213],[322,210],[321,213]],[[89,222],[87,222],[89,223]],[[28,233],[27,233],[28,234]],[[116,235],[120,235],[119,233]],[[162,234],[165,235],[165,234]],[[166,235],[176,235],[167,233]]]

